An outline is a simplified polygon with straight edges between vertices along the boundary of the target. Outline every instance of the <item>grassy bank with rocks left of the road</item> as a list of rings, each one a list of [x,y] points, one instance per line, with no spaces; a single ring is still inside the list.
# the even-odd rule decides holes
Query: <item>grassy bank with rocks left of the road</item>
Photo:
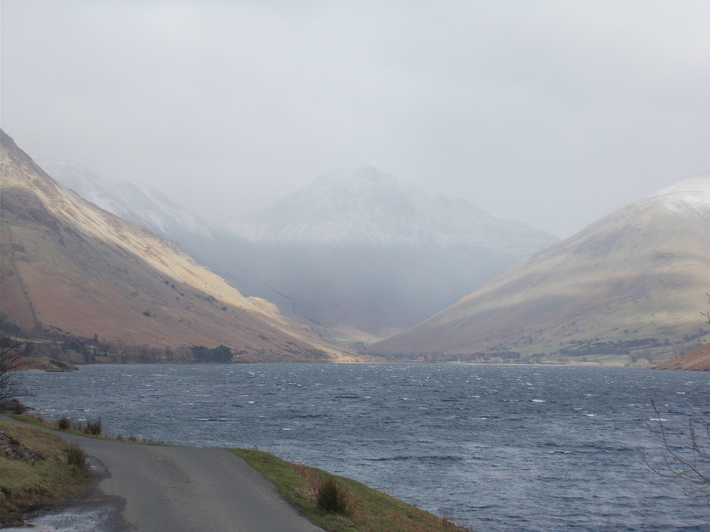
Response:
[[[70,445],[59,436],[18,423],[2,423],[2,432],[2,525],[17,522],[23,511],[79,492],[91,480],[84,462],[70,463]]]

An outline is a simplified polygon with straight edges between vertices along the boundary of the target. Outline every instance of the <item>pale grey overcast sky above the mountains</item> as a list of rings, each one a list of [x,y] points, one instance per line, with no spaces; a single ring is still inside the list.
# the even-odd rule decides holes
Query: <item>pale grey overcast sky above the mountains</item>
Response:
[[[367,164],[564,238],[710,170],[708,1],[0,9],[4,131],[210,221]]]

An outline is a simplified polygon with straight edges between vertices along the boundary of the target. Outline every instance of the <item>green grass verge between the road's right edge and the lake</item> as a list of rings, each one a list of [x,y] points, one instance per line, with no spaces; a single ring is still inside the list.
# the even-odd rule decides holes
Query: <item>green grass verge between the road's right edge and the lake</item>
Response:
[[[440,518],[416,506],[315,467],[286,462],[254,449],[230,449],[271,480],[281,496],[316,526],[329,532],[470,532],[473,529]],[[332,484],[346,501],[345,515],[319,508],[319,487]]]

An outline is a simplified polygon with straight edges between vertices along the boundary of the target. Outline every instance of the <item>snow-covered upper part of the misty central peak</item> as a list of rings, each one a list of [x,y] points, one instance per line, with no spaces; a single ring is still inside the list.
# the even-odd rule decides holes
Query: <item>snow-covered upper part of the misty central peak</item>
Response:
[[[403,187],[391,174],[368,166],[324,174],[263,211],[231,218],[223,226],[261,243],[475,246],[517,258],[557,242],[523,223],[498,221],[464,199]]]

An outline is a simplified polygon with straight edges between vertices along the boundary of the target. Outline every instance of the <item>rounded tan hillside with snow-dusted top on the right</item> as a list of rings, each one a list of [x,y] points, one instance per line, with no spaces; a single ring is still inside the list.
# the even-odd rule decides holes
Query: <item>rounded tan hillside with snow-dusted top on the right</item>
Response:
[[[710,174],[682,179],[371,346],[413,358],[648,363],[693,348],[710,289]]]

